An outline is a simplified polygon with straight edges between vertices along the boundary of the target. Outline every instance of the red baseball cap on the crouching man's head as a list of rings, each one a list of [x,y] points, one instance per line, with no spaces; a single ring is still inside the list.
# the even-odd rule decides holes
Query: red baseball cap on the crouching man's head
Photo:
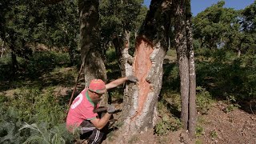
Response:
[[[93,79],[90,81],[89,90],[98,94],[106,93],[106,85],[101,79]]]

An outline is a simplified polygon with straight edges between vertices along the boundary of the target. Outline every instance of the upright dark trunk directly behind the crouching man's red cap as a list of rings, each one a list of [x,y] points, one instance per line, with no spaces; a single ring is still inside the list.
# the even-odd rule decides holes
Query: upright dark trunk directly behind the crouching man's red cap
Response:
[[[106,82],[106,67],[103,62],[98,29],[98,0],[79,0],[80,46],[84,63],[85,85],[94,78]],[[106,99],[102,101],[106,105]]]

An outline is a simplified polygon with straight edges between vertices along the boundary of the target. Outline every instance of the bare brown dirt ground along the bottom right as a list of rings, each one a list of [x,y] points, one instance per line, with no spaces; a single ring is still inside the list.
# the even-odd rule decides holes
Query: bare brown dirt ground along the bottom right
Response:
[[[210,109],[209,114],[198,115],[197,137],[190,140],[186,131],[170,132],[166,136],[154,135],[153,130],[138,134],[128,143],[133,144],[254,144],[256,143],[256,114],[248,114],[240,109],[229,113],[223,111],[226,104],[217,102]],[[102,142],[120,143],[120,142]]]

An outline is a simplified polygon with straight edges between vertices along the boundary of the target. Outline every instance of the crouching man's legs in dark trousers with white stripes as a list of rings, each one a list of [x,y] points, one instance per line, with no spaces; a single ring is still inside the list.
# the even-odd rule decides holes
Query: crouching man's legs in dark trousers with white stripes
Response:
[[[83,121],[80,125],[81,134],[90,134],[89,142],[92,144],[100,143],[102,141],[104,133],[94,127],[90,121]]]

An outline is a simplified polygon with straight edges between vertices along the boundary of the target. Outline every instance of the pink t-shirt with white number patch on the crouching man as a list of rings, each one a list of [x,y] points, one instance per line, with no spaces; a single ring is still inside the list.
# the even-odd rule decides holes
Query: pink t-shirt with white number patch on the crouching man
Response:
[[[96,118],[98,114],[94,113],[94,107],[94,102],[91,101],[88,90],[82,90],[82,92],[74,98],[74,101],[70,106],[66,118],[67,129],[73,131],[74,128],[80,126],[82,121]]]

